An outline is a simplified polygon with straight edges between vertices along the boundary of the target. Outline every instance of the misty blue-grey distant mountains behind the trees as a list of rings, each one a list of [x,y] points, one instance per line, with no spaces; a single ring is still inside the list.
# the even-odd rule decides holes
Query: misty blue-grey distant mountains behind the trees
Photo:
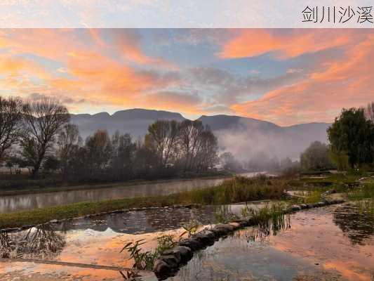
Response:
[[[113,115],[107,112],[72,115],[72,123],[79,126],[84,138],[98,129],[105,129],[109,134],[116,130],[131,133],[136,139],[145,135],[149,124],[161,119],[182,121],[185,117],[176,112],[144,109],[121,110]],[[312,141],[327,143],[326,129],[330,126],[327,123],[278,126],[258,119],[229,115],[203,115],[199,120],[210,126],[218,136],[222,150],[232,151],[241,159],[258,157],[262,152],[280,158],[298,158]]]

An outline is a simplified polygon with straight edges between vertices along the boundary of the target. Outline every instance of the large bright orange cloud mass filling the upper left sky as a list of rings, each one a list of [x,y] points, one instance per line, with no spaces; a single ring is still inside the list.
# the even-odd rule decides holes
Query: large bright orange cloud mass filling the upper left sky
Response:
[[[139,103],[142,92],[175,84],[173,76],[141,69],[171,64],[142,53],[135,33],[126,37],[119,35],[126,30],[114,32],[116,39],[107,44],[99,31],[1,30],[0,48],[6,54],[0,55],[0,75],[5,77],[0,85],[17,96],[32,92],[56,98],[71,95],[88,103],[126,107]],[[125,60],[115,58],[116,54]],[[51,65],[44,65],[45,59],[60,65],[55,73]]]

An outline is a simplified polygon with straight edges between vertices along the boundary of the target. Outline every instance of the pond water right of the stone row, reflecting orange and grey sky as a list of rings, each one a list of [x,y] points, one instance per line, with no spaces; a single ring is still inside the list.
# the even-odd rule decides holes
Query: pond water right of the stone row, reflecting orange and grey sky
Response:
[[[356,214],[354,209],[350,211]],[[350,223],[356,217],[347,216],[347,212],[339,206],[310,209],[285,217],[284,224],[276,223],[276,231],[273,222],[272,226],[265,224],[265,229],[239,230],[195,255],[168,280],[370,281],[374,270],[373,233],[366,223],[364,227]],[[338,226],[336,218],[341,218]],[[360,244],[352,244],[352,235],[344,231],[356,231],[365,238]]]

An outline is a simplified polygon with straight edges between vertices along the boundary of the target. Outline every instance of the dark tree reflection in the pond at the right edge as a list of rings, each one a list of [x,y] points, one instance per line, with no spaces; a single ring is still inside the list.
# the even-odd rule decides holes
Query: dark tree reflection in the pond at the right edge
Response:
[[[373,216],[360,211],[356,205],[335,209],[333,221],[353,244],[364,244],[374,234]]]

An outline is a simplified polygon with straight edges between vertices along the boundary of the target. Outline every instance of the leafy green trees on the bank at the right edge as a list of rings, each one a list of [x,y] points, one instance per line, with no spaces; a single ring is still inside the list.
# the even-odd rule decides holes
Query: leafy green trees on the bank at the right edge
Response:
[[[329,145],[316,141],[300,156],[303,170],[374,168],[374,102],[343,108],[327,133]]]

